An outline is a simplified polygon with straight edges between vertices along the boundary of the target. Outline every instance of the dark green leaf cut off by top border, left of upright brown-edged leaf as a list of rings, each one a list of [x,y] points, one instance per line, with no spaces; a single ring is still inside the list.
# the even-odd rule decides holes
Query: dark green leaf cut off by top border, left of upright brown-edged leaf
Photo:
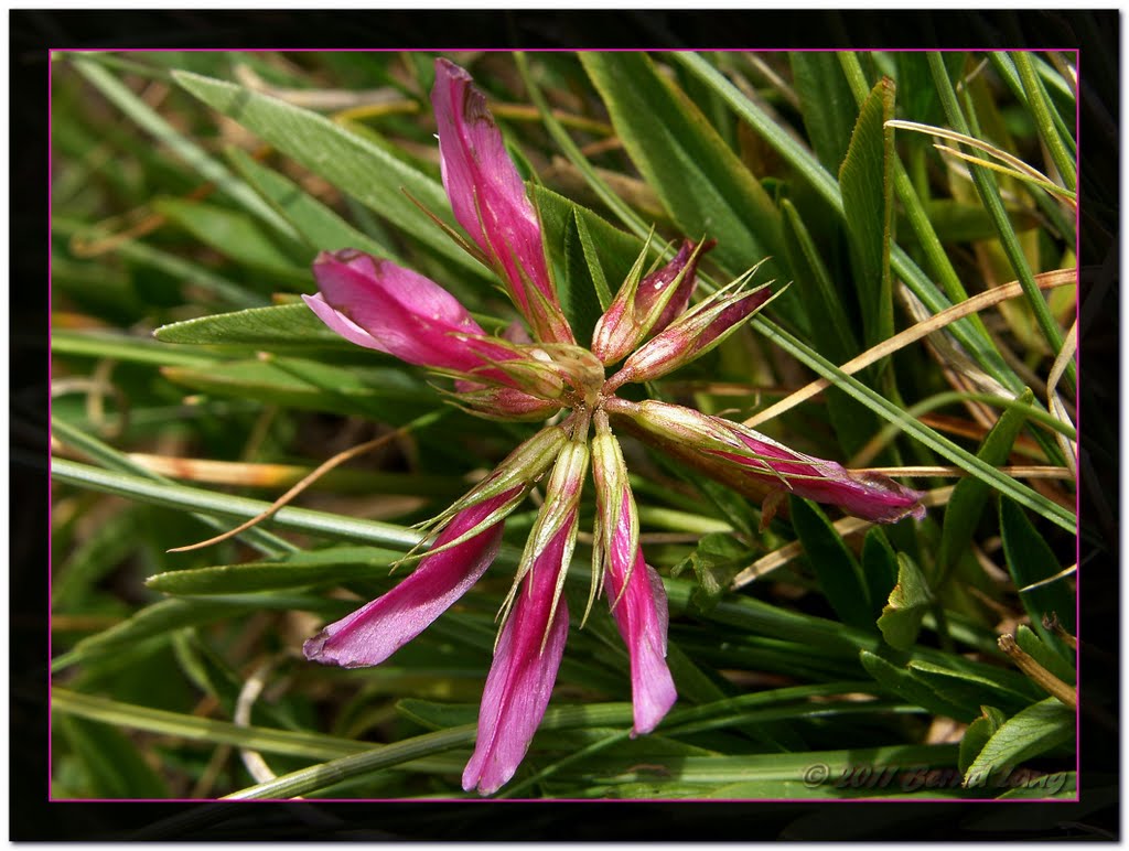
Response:
[[[838,174],[858,119],[858,105],[834,53],[788,54],[804,128],[823,167]]]

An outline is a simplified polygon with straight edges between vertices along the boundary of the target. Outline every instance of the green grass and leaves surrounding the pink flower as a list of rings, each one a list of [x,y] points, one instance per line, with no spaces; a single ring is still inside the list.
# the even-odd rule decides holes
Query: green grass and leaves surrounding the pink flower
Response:
[[[55,798],[471,797],[461,775],[499,605],[548,477],[479,582],[386,663],[303,653],[409,576],[427,521],[540,428],[448,404],[449,376],[348,343],[299,298],[316,291],[320,252],[357,248],[431,278],[490,333],[517,317],[457,242],[428,100],[438,55],[53,55]],[[1053,380],[1076,295],[1040,289],[1075,263],[1066,60],[448,58],[485,93],[581,345],[648,234],[648,267],[683,239],[717,240],[694,302],[762,261],[751,284],[774,279],[781,295],[746,327],[623,398],[735,422],[786,400],[753,428],[858,475],[885,471],[927,507],[884,526],[782,499],[772,481],[768,499],[738,493],[613,423],[668,599],[679,700],[632,735],[631,660],[606,587],[586,613],[580,535],[560,674],[497,797],[1073,797],[1088,782],[1073,772],[1074,711],[997,643],[1009,624],[1076,685],[1061,635],[1077,625],[1073,366]],[[968,133],[1062,191],[891,119]],[[1010,281],[1021,293],[998,308],[843,367]],[[829,386],[797,401],[819,378]],[[581,528],[596,515],[589,477]],[[937,719],[957,725],[947,744]],[[252,753],[269,769],[259,780]],[[813,765],[828,771],[814,782]],[[953,782],[911,782],[931,771]]]

